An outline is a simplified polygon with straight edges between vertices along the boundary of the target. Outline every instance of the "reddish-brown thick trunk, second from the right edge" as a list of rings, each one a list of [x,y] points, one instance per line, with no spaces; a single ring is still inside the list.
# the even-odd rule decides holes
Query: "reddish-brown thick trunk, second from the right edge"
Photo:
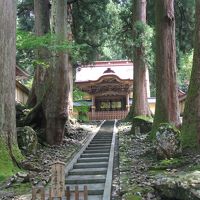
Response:
[[[160,123],[180,125],[176,82],[174,0],[156,0],[156,77],[153,132]]]

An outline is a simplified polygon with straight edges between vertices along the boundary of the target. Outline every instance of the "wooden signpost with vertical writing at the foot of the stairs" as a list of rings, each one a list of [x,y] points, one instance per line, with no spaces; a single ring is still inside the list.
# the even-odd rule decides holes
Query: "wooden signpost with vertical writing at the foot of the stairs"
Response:
[[[65,163],[56,161],[51,165],[51,198],[62,198],[65,192]]]

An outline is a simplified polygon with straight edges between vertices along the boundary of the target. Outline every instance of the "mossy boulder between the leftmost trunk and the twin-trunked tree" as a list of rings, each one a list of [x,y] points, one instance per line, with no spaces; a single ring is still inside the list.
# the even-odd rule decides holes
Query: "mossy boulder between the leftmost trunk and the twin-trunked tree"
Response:
[[[38,146],[36,132],[30,127],[18,127],[17,138],[20,149],[26,154],[35,154]]]

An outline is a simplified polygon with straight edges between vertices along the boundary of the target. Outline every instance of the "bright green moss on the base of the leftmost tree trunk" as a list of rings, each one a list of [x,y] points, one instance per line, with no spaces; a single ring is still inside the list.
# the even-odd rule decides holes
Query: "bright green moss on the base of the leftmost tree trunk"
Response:
[[[22,160],[23,156],[17,145],[14,145],[12,148],[12,152],[17,161]],[[0,181],[5,180],[17,171],[19,171],[19,168],[13,164],[6,142],[0,138]]]

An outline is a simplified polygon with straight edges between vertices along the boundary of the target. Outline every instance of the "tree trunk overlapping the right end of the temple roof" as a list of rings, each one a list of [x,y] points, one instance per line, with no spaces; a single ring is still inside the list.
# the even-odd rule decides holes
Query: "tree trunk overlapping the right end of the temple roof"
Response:
[[[137,37],[134,28],[136,23],[146,24],[146,0],[137,0],[134,4],[133,37]],[[133,83],[133,115],[150,116],[147,99],[147,66],[145,63],[144,47],[134,50],[134,83]]]

